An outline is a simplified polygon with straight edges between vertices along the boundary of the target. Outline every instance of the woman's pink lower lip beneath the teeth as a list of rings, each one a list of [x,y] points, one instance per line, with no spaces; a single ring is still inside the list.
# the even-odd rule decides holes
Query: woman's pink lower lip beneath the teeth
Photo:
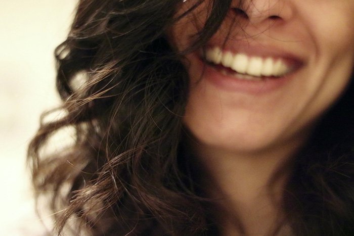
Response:
[[[205,64],[198,55],[193,55],[193,57],[200,64],[203,78],[210,81],[216,87],[231,92],[261,95],[281,88],[294,77],[294,73],[291,73],[279,78],[266,77],[260,80],[246,80],[233,75],[224,75],[216,67]]]

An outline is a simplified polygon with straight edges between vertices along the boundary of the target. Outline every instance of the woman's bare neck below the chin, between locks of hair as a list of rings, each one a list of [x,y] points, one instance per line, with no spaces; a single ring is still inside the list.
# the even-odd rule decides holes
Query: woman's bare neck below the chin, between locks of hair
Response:
[[[223,236],[269,235],[276,230],[284,216],[281,198],[290,174],[284,166],[303,140],[241,154],[204,145],[193,147],[208,176],[203,180],[207,193],[220,208]]]

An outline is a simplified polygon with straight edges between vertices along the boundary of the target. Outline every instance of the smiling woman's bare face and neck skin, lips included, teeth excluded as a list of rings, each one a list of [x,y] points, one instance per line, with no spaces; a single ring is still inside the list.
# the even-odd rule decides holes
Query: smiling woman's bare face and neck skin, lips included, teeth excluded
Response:
[[[301,147],[350,80],[354,1],[246,0],[235,10],[238,2],[206,47],[290,57],[301,65],[277,80],[242,82],[205,64],[199,51],[191,53],[185,62],[190,93],[184,122],[212,180],[205,180],[207,191],[220,200],[221,234],[239,235],[236,215],[246,235],[269,235],[286,215],[281,197],[291,172],[282,168],[283,162]],[[188,0],[181,12],[193,3]],[[208,0],[172,28],[171,43],[178,50],[188,48],[203,27],[206,6]],[[233,24],[234,18],[238,23]],[[271,176],[280,168],[283,175],[271,190]],[[291,235],[286,225],[282,230]]]

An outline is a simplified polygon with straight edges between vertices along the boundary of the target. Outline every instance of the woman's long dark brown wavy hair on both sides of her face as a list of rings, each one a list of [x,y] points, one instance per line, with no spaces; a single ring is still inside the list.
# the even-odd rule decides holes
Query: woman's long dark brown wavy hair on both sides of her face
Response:
[[[39,196],[51,199],[55,231],[89,235],[217,235],[217,208],[188,149],[182,117],[188,73],[181,63],[216,32],[231,0],[210,1],[190,48],[174,52],[175,0],[81,0],[58,46],[62,106],[45,114],[28,161]],[[354,235],[354,86],[291,162],[283,196],[295,235]],[[52,137],[70,139],[50,150]]]

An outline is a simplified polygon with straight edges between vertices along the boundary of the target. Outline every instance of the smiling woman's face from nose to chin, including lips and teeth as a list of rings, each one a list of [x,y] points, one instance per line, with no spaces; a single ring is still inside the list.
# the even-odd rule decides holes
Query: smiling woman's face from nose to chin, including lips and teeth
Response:
[[[209,62],[202,50],[187,56],[185,125],[202,145],[230,151],[300,140],[349,81],[354,1],[248,0],[239,9],[234,2],[204,48]],[[173,27],[179,50],[202,28],[206,6]]]

